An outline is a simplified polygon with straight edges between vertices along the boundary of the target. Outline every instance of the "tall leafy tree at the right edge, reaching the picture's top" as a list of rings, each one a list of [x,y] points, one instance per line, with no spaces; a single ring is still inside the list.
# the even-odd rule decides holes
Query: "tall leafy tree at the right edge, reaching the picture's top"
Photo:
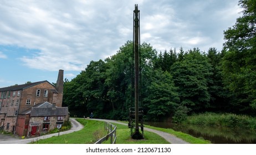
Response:
[[[256,1],[240,0],[239,5],[242,17],[224,32],[227,52],[222,74],[224,84],[233,93],[234,112],[247,113],[256,107]]]

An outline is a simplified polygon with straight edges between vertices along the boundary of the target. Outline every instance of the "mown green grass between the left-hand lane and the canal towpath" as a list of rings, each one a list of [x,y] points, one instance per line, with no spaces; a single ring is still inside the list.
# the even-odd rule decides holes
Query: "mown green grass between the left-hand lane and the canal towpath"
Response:
[[[103,121],[95,121],[95,120],[84,120],[82,118],[77,118],[81,124],[84,125],[84,128],[80,131],[76,131],[73,133],[54,136],[47,139],[40,139],[37,144],[90,144],[96,142],[96,136],[98,132],[102,132],[101,130],[104,129],[104,122]],[[164,138],[158,136],[156,133],[152,132],[144,132],[145,139],[141,140],[134,140],[130,137],[130,128],[124,125],[119,125],[113,123],[117,126],[116,134],[117,134],[117,144],[166,144],[168,143]],[[104,132],[104,131],[103,131]],[[95,134],[97,133],[97,134]],[[106,132],[101,135],[103,137],[106,135]],[[110,139],[109,139],[110,141]],[[110,143],[106,141],[104,143]]]

